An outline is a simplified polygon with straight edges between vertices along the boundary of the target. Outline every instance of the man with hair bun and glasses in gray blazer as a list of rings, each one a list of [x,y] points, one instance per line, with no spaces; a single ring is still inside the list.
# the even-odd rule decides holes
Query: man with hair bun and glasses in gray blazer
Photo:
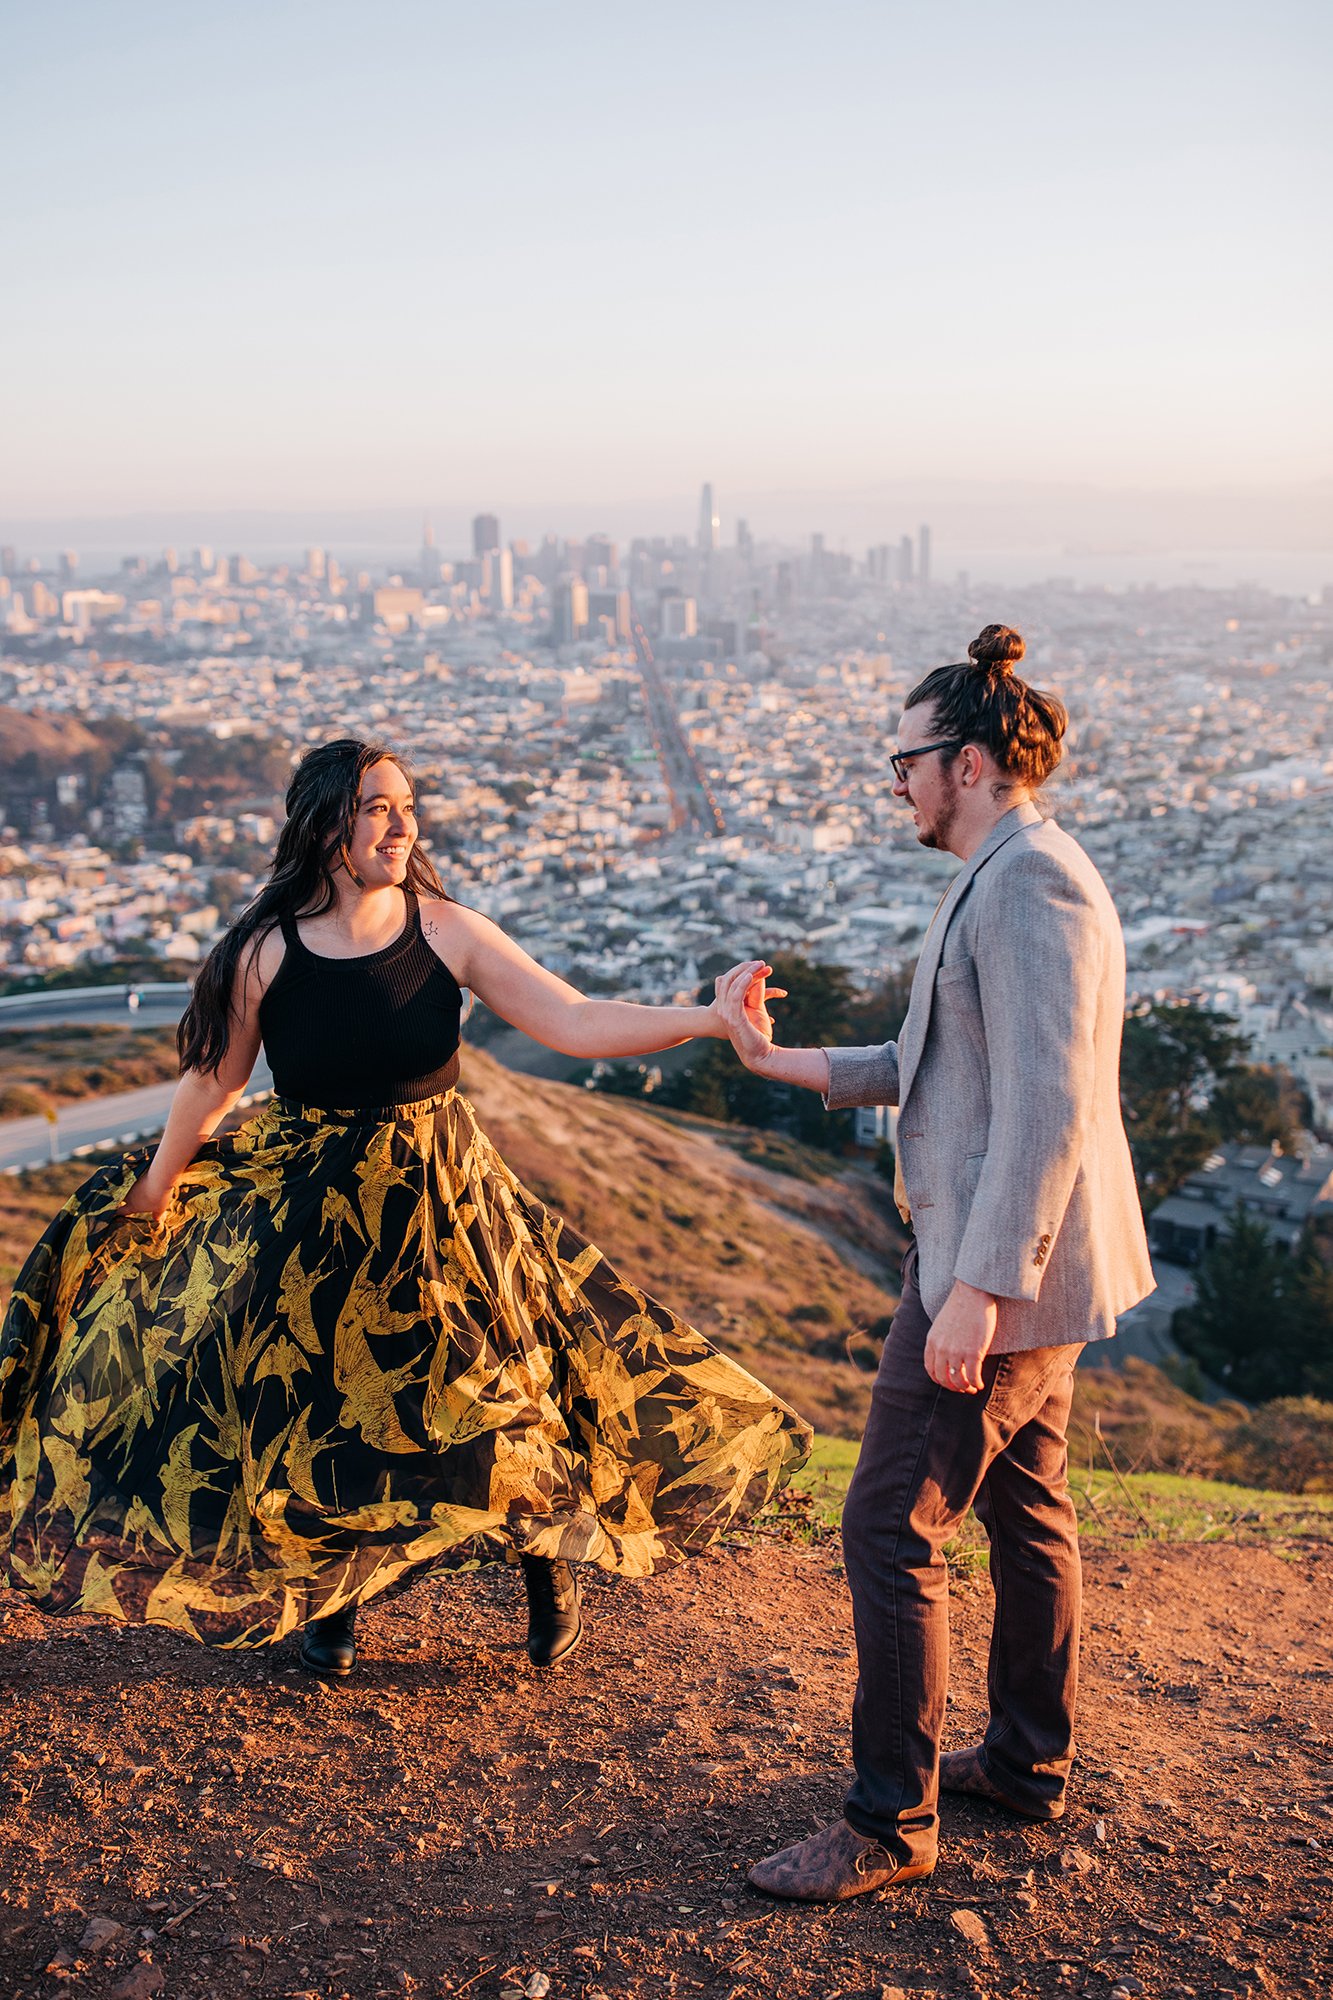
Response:
[[[899,1042],[777,1048],[763,976],[719,992],[741,1060],[831,1110],[899,1106],[915,1242],[875,1380],[843,1542],[859,1684],[845,1818],[751,1870],[841,1900],[935,1868],[945,1790],[1057,1820],[1073,1762],[1079,1542],[1067,1486],[1073,1368],[1153,1290],[1119,1104],[1125,946],[1083,848],[1033,794],[1067,716],[987,626],[907,696],[895,794],[963,860]],[[943,1758],[949,1584],[969,1506],[991,1540],[991,1716]]]

